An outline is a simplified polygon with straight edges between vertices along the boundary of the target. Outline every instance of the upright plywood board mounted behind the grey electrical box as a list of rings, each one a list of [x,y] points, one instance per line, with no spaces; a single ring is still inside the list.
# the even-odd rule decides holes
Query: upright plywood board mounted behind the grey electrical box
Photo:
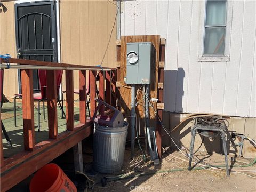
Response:
[[[159,46],[160,36],[159,35],[146,35],[146,36],[122,36],[121,37],[121,77],[120,77],[120,93],[121,93],[121,107],[122,112],[126,117],[130,116],[131,109],[131,89],[130,85],[124,83],[124,77],[126,76],[126,43],[131,42],[152,42],[155,49],[155,65],[151,68],[151,83],[150,83],[150,97],[157,98],[157,86],[158,86],[158,65],[159,65]],[[137,86],[137,90],[140,85]],[[138,92],[137,101],[142,99],[143,92]],[[154,106],[156,108],[156,106]],[[144,117],[143,102],[137,106],[137,117]],[[150,109],[150,119],[155,119],[153,109]]]

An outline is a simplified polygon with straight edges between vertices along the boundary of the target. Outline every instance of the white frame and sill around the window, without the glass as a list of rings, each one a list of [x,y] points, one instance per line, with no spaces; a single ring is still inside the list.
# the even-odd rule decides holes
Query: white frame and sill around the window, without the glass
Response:
[[[225,50],[224,55],[204,55],[204,33],[205,33],[205,15],[206,15],[206,1],[201,1],[201,15],[200,15],[200,31],[199,31],[199,50],[197,61],[230,61],[230,42],[231,42],[231,25],[232,25],[232,11],[233,0],[227,0],[227,15],[226,15],[226,32],[225,32]]]

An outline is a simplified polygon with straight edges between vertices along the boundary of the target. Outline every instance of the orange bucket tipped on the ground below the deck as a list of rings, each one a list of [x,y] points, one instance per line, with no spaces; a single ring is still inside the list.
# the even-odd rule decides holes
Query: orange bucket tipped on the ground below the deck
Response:
[[[60,167],[49,163],[39,169],[29,185],[30,192],[76,192],[76,186]]]

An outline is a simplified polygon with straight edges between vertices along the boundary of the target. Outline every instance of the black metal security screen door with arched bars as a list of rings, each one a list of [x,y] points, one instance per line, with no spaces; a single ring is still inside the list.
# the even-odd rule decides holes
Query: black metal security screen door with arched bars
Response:
[[[54,2],[15,4],[15,29],[18,58],[57,62]],[[33,70],[33,88],[40,91],[38,70]]]

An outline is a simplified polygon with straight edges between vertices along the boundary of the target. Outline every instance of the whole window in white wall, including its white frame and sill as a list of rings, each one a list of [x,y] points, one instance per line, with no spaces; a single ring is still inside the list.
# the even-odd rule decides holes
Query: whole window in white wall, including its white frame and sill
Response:
[[[231,33],[230,0],[202,1],[201,43],[198,61],[229,61]]]

